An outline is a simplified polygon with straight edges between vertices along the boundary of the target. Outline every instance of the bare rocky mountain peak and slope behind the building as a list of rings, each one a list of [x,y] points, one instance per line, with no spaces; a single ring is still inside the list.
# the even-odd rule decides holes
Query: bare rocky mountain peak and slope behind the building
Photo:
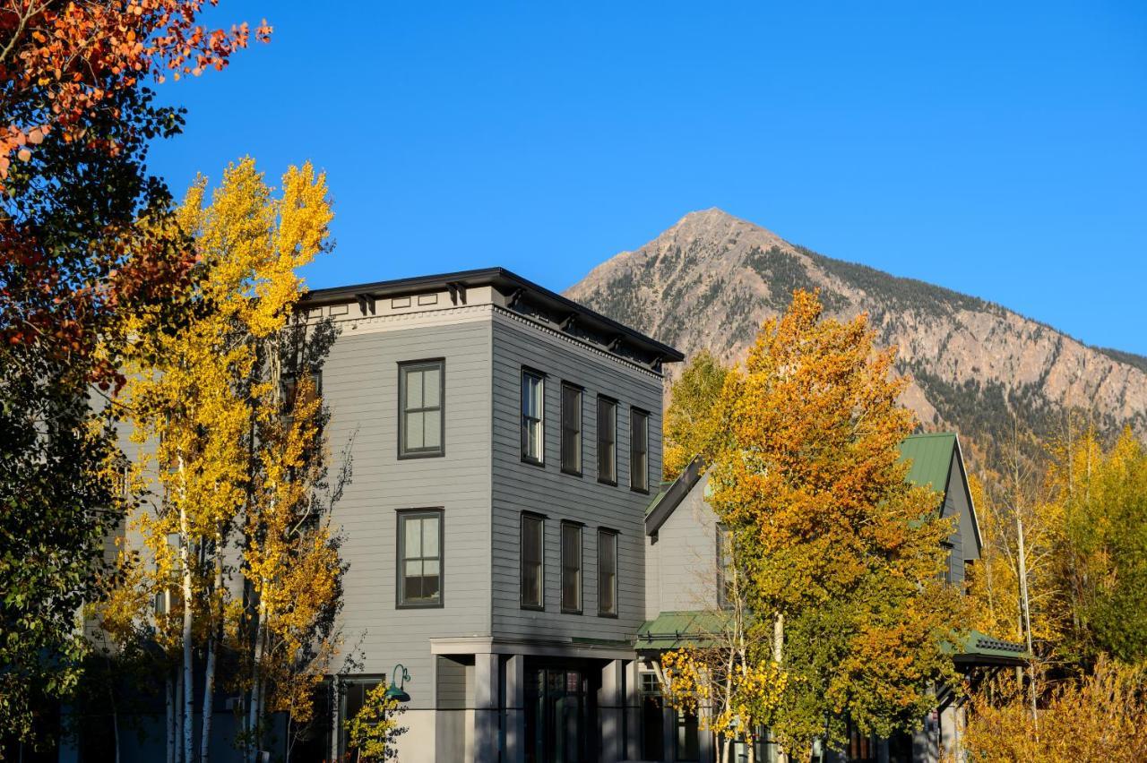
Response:
[[[790,244],[712,209],[685,215],[641,249],[594,268],[565,294],[687,354],[744,356],[795,288],[819,288],[828,313],[867,312],[899,348],[905,402],[926,430],[955,428],[978,455],[1011,438],[1012,414],[1040,434],[1084,408],[1107,431],[1147,434],[1147,357],[1089,347],[1055,329],[920,281]]]

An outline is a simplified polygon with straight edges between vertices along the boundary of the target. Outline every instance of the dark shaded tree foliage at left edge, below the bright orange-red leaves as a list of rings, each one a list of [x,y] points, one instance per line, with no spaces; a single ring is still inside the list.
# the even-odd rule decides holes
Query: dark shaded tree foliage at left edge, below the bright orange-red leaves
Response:
[[[103,537],[120,510],[115,480],[95,473],[114,440],[93,418],[93,382],[111,384],[115,371],[95,345],[116,309],[175,301],[178,278],[165,276],[182,242],[143,242],[134,225],[169,205],[147,142],[181,123],[150,99],[118,91],[87,117],[86,136],[117,143],[115,154],[52,133],[13,166],[0,200],[0,727],[17,738],[75,684],[77,613],[99,597]],[[84,289],[131,267],[145,243],[148,263],[126,289]]]

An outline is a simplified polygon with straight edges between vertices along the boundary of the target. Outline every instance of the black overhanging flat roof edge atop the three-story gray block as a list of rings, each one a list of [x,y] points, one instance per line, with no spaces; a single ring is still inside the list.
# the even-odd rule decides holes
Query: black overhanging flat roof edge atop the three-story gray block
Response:
[[[643,346],[647,349],[660,353],[663,362],[681,362],[685,355],[674,347],[657,341],[653,337],[631,329],[617,321],[606,317],[601,313],[590,309],[585,305],[575,302],[568,297],[563,297],[555,291],[523,278],[516,273],[506,268],[478,268],[475,270],[459,270],[457,273],[440,273],[436,275],[414,276],[411,278],[393,278],[391,281],[375,281],[373,283],[360,283],[348,286],[331,286],[329,289],[314,289],[303,296],[303,304],[326,305],[353,299],[358,294],[372,294],[374,297],[388,297],[401,294],[419,289],[442,290],[450,284],[461,284],[465,286],[493,285],[502,289],[523,289],[544,304],[544,306],[577,313],[590,323],[598,324],[601,329],[623,335],[631,341]]]

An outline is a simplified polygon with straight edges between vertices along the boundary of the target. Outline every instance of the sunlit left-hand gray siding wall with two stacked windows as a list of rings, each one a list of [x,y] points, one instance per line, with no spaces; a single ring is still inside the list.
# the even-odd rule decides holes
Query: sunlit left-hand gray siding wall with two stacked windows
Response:
[[[353,435],[353,479],[334,513],[350,563],[344,642],[365,653],[364,672],[404,663],[413,709],[434,707],[429,639],[490,632],[490,313],[458,313],[454,323],[406,320],[413,325],[400,330],[344,325],[322,373],[335,461]],[[400,461],[398,363],[429,357],[446,359],[446,455]],[[444,510],[444,606],[397,609],[396,511],[430,506]]]

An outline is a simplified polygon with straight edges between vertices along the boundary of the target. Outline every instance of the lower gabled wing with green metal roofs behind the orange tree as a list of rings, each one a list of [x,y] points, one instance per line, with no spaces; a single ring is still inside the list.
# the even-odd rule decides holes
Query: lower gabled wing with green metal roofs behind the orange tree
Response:
[[[942,494],[942,517],[955,517],[947,548],[945,580],[963,584],[966,568],[980,559],[982,541],[968,488],[959,439],[953,433],[918,434],[900,446],[911,461],[907,479]],[[642,697],[642,760],[713,760],[713,740],[697,729],[695,718],[665,708],[656,691],[653,663],[665,651],[679,648],[719,626],[710,624],[719,612],[723,571],[731,559],[721,548],[721,529],[705,501],[708,474],[695,459],[681,475],[650,503],[646,516],[646,603],[648,620],[638,632],[639,675]],[[996,669],[1025,664],[1023,647],[983,634],[969,634],[953,660],[959,670]],[[852,734],[845,755],[828,761],[872,763],[937,763],[941,752],[960,749],[963,708],[947,687],[937,689],[937,710],[915,734],[876,739]],[[758,761],[773,760],[775,750],[763,741]]]

